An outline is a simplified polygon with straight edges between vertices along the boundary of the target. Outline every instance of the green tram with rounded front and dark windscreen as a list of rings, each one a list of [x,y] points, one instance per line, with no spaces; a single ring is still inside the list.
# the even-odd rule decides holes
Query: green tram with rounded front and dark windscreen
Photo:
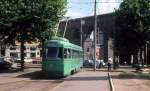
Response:
[[[68,76],[80,70],[83,49],[69,40],[54,37],[45,43],[42,70],[53,77]]]

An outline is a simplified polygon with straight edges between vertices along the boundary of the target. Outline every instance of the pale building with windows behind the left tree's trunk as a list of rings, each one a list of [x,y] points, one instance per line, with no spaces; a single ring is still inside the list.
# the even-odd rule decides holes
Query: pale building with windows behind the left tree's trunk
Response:
[[[32,61],[34,58],[41,57],[41,48],[39,48],[39,43],[25,43],[24,58],[25,61]],[[20,43],[16,42],[16,46],[6,46],[5,56],[6,57],[15,57],[20,60]]]

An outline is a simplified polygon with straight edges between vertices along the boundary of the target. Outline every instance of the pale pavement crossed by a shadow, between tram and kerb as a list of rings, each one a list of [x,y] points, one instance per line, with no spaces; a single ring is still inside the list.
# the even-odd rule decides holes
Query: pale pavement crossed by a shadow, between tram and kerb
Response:
[[[82,71],[50,91],[110,91],[107,72]]]

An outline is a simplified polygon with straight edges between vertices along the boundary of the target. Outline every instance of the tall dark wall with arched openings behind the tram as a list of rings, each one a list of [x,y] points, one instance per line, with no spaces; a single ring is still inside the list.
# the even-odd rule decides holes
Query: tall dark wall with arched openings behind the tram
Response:
[[[85,23],[82,25],[82,33],[83,33],[83,41],[87,39],[87,37],[94,30],[94,16],[82,17],[77,19],[71,19],[68,21],[66,38],[70,40],[70,42],[80,45],[80,36],[81,36],[81,20]],[[60,22],[59,30],[63,30],[65,28],[66,21]],[[97,15],[97,45],[100,48],[99,55],[101,59],[104,59],[105,62],[108,61],[109,55],[111,55],[109,51],[109,38],[113,37],[113,31],[115,29],[115,16],[113,13]],[[102,35],[102,36],[101,36]]]

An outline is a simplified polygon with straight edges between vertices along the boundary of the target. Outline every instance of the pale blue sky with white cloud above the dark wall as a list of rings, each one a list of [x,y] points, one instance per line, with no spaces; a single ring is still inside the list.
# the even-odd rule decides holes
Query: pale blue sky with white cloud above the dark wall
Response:
[[[79,18],[94,15],[95,0],[68,0],[66,16]],[[122,0],[97,0],[97,14],[113,12]],[[116,2],[116,3],[115,3]]]

